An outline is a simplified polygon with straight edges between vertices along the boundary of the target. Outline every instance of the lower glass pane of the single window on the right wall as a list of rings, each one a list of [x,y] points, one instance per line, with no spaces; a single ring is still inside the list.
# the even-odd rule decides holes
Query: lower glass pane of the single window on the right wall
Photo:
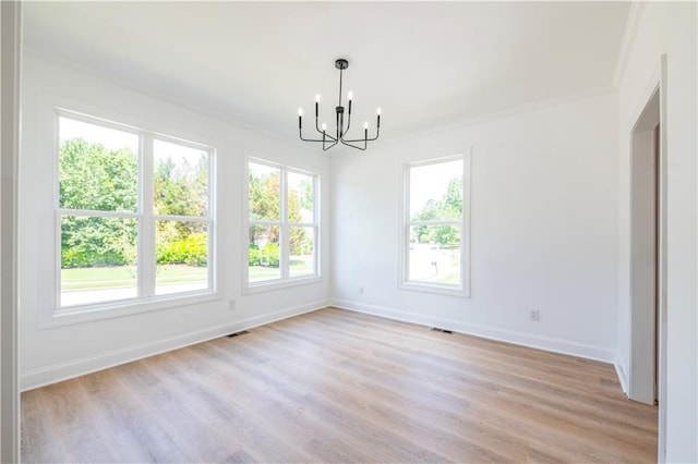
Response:
[[[460,225],[410,227],[408,280],[460,285]]]

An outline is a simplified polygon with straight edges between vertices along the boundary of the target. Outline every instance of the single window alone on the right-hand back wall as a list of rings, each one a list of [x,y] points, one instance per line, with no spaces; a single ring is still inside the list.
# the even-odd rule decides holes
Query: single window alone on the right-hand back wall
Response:
[[[405,169],[402,286],[468,295],[469,157]]]

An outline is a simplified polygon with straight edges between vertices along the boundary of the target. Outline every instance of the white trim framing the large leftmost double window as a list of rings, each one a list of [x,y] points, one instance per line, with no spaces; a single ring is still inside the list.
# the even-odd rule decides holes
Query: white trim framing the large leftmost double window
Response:
[[[136,211],[91,211],[91,210],[75,210],[69,208],[60,208],[59,202],[59,176],[58,170],[60,163],[58,162],[58,154],[55,151],[60,145],[60,134],[58,130],[58,119],[69,118],[91,124],[101,125],[109,129],[116,129],[122,132],[136,134],[141,137],[141,149],[139,152],[139,206]],[[144,211],[152,211],[152,195],[145,195],[148,186],[152,187],[152,180],[145,182],[144,179],[152,179],[153,162],[152,152],[146,156],[144,152],[144,145],[152,149],[152,144],[144,143],[147,139],[153,142],[155,139],[163,142],[176,143],[179,145],[188,146],[195,149],[204,150],[208,154],[208,211],[206,216],[202,217],[185,217],[185,216],[164,216],[149,213]],[[216,149],[182,138],[173,137],[171,135],[160,134],[153,131],[137,129],[128,124],[122,124],[113,121],[109,121],[99,117],[87,115],[70,109],[56,107],[53,109],[53,136],[51,144],[51,152],[53,154],[53,162],[51,163],[51,176],[52,176],[52,209],[55,216],[55,223],[52,229],[53,234],[53,253],[49,257],[47,265],[51,268],[53,276],[51,282],[53,291],[50,292],[50,304],[46,310],[38,312],[38,328],[49,329],[53,327],[70,326],[74,323],[82,323],[88,321],[96,321],[103,319],[111,319],[116,317],[122,317],[134,314],[143,314],[148,312],[156,312],[163,309],[169,309],[181,306],[190,306],[195,304],[202,304],[213,301],[220,301],[222,296],[219,293],[219,285],[217,282],[217,262],[219,259],[219,252],[216,246]],[[148,178],[148,175],[151,178]],[[148,206],[149,205],[149,206]],[[148,208],[149,209],[146,209]],[[208,264],[207,264],[207,279],[208,288],[203,290],[194,290],[189,292],[171,293],[164,295],[155,294],[155,281],[146,281],[149,276],[155,274],[155,259],[151,259],[152,266],[141,265],[139,266],[139,276],[136,279],[137,296],[133,298],[118,300],[111,302],[99,302],[94,304],[79,305],[79,306],[65,306],[60,307],[60,262],[61,262],[61,216],[75,212],[80,216],[95,216],[95,217],[115,217],[115,218],[140,218],[139,222],[139,242],[137,253],[139,256],[144,256],[144,253],[155,253],[155,235],[154,231],[145,227],[145,222],[154,222],[161,219],[173,220],[192,220],[206,222],[207,224],[207,239],[208,239]],[[153,269],[149,269],[149,268]]]

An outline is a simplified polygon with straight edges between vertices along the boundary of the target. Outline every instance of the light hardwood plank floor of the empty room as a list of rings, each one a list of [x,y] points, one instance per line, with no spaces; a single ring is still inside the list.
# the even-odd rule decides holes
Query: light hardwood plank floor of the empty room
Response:
[[[327,308],[22,394],[24,462],[652,462],[611,365]]]

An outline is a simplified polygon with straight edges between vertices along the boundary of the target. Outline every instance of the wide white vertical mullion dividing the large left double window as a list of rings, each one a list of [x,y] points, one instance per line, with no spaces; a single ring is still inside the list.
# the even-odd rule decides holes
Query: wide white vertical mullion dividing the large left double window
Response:
[[[141,136],[141,202],[139,221],[139,290],[155,295],[155,218],[153,216],[153,135]]]

